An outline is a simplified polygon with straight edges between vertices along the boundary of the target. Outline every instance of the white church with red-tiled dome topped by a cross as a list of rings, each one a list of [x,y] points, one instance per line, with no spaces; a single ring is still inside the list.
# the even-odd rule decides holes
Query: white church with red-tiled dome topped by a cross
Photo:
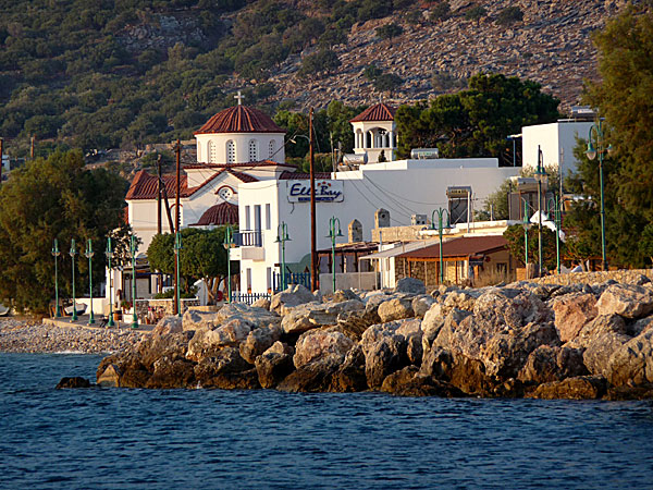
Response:
[[[284,171],[296,170],[285,163],[284,135],[266,113],[238,105],[213,115],[196,135],[197,162],[183,164],[180,181],[181,228],[214,226],[238,222],[238,186],[243,183],[274,181]],[[162,184],[172,222],[176,218],[176,174],[165,174]],[[127,192],[127,220],[140,238],[139,257],[145,254],[159,228],[159,180],[145,170],[138,172]],[[161,230],[170,233],[170,220],[162,199]],[[137,267],[138,269],[138,267]],[[125,274],[131,278],[131,272]],[[150,297],[159,287],[155,274],[137,279],[137,297]],[[131,297],[121,277],[114,281]]]

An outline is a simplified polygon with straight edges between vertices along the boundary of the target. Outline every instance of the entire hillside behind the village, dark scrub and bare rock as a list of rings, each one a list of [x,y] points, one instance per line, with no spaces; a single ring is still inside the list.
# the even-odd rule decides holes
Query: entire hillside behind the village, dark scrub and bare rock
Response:
[[[137,149],[192,137],[238,89],[274,113],[426,99],[481,71],[540,82],[564,110],[595,76],[591,32],[627,3],[0,0],[0,137],[12,156],[32,135]],[[521,20],[502,22],[508,7]]]

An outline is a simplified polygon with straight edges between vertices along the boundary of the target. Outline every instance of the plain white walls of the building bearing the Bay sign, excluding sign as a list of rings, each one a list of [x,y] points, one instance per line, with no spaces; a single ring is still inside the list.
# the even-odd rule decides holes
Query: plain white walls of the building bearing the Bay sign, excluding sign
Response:
[[[434,209],[447,206],[446,189],[452,185],[470,185],[473,192],[475,209],[482,207],[483,200],[507,177],[518,174],[519,169],[498,168],[496,159],[466,160],[401,160],[397,162],[365,166],[359,171],[337,172],[337,180],[344,182],[342,203],[318,203],[316,205],[318,249],[331,247],[329,220],[340,219],[343,237],[336,243],[347,242],[347,225],[354,219],[362,224],[364,240],[371,238],[374,226],[374,212],[385,208],[391,215],[391,225],[410,224],[411,213],[428,215]],[[267,268],[281,261],[280,245],[273,243],[278,224],[287,223],[292,238],[286,243],[286,262],[298,262],[310,253],[310,204],[289,203],[287,181],[256,182],[239,186],[241,230],[246,230],[246,207],[250,217],[254,206],[271,204],[271,230],[263,232],[263,259],[241,260],[243,291],[247,287],[246,270],[251,269],[252,292],[266,292]],[[250,229],[254,219],[250,218]],[[236,259],[242,250],[235,253]]]

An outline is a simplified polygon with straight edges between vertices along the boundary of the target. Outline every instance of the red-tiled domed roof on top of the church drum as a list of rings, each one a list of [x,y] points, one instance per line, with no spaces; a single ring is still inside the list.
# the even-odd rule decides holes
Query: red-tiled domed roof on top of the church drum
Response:
[[[285,133],[285,130],[264,112],[238,105],[218,112],[195,134],[215,133]]]

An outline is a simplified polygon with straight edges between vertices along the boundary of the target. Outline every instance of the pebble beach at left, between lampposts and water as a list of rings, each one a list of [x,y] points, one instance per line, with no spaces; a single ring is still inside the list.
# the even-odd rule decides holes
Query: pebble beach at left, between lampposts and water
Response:
[[[133,347],[143,335],[124,329],[61,328],[35,320],[0,319],[0,352],[113,353]]]

